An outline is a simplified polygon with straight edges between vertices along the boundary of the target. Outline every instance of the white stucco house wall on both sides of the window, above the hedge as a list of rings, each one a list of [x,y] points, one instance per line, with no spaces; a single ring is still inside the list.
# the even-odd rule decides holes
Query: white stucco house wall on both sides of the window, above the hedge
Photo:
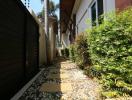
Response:
[[[82,33],[87,28],[91,27],[91,23],[90,23],[91,8],[90,6],[93,1],[96,1],[96,0],[81,0],[79,7],[77,7],[78,10],[76,11],[76,24],[78,25],[78,31],[76,28],[76,33]],[[103,4],[104,4],[104,13],[115,11],[115,0],[104,0]]]

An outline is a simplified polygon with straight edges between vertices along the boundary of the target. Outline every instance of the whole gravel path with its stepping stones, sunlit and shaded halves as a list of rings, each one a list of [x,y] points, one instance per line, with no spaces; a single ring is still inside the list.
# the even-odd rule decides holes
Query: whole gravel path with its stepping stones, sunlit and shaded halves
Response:
[[[45,68],[19,100],[100,100],[99,84],[65,59]]]

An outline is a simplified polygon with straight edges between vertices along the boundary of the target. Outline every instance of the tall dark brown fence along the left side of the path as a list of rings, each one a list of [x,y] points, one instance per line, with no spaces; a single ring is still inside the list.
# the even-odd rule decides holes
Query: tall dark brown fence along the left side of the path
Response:
[[[20,0],[0,0],[0,98],[11,98],[38,72],[38,25]]]

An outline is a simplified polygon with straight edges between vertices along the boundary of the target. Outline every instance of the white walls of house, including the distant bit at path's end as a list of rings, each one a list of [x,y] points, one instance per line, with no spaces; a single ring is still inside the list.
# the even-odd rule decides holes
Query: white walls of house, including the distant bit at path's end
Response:
[[[92,27],[91,23],[91,6],[97,0],[76,0],[75,5],[73,7],[71,19],[73,14],[76,14],[76,35],[83,33],[86,29]],[[104,13],[109,13],[115,10],[115,0],[103,0],[103,8]],[[97,11],[97,5],[96,5]],[[98,13],[98,12],[96,12]],[[98,17],[98,14],[96,18]],[[62,40],[64,43],[64,47],[69,45],[69,32],[63,34]]]

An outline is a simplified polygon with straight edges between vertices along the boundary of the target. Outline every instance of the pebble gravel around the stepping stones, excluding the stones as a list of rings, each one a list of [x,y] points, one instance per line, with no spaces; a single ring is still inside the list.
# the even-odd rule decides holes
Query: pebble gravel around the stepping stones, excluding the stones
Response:
[[[66,79],[49,79],[49,71],[54,68],[60,68],[60,64],[55,64],[45,68],[39,77],[32,83],[32,85],[25,91],[19,100],[101,100],[97,82],[88,78],[83,74],[77,66],[69,61],[62,62],[61,69],[63,73],[69,75]],[[53,72],[57,74],[57,72]],[[43,83],[67,83],[72,85],[72,91],[64,92],[41,92],[40,87]],[[67,87],[68,88],[68,87]]]

